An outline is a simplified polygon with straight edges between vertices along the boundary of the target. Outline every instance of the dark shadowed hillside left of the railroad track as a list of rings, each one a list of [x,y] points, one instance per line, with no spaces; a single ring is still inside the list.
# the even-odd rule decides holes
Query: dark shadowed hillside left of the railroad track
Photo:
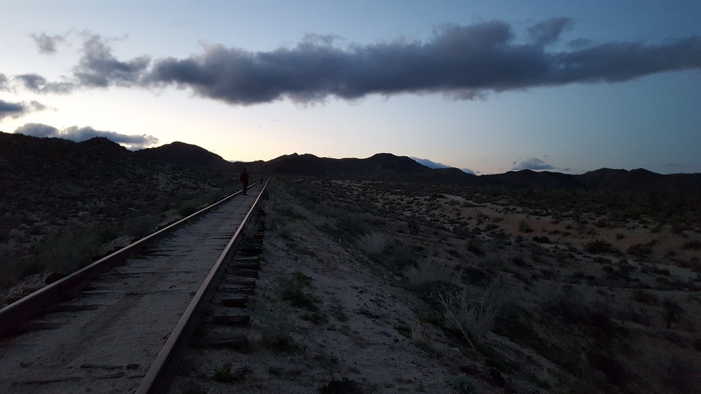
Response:
[[[2,229],[18,220],[16,212],[33,206],[46,208],[54,222],[86,212],[116,217],[237,185],[231,170],[221,170],[236,166],[217,158],[187,144],[139,153],[102,137],[73,142],[0,132],[0,217],[6,218],[0,239]]]

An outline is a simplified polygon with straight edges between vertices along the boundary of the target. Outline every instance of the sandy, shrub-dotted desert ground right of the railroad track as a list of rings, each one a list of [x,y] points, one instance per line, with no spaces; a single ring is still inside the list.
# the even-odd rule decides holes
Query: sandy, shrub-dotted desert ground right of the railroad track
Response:
[[[250,346],[173,391],[698,392],[697,210],[490,193],[276,179]]]

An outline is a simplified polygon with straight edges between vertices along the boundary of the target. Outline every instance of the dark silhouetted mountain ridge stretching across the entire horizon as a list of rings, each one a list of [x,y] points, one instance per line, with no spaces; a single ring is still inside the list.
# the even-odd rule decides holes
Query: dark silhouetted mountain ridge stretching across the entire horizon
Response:
[[[90,178],[129,170],[141,165],[175,165],[192,171],[231,173],[232,179],[245,165],[260,175],[367,179],[374,181],[464,184],[471,186],[537,187],[601,191],[701,193],[701,173],[661,175],[644,169],[601,168],[581,175],[533,170],[496,175],[471,175],[457,168],[428,168],[407,156],[375,154],[369,158],[324,158],[312,154],[290,154],[269,161],[231,163],[196,145],[173,142],[161,147],[128,151],[106,138],[72,142],[60,138],[38,138],[0,132],[0,179],[51,177]],[[48,169],[52,169],[47,172]],[[3,175],[2,172],[5,174]]]

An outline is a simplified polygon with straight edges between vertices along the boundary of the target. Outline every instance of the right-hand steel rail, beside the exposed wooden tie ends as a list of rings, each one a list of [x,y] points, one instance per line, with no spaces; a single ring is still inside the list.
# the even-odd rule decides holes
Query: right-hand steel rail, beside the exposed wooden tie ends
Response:
[[[182,318],[180,318],[175,329],[168,337],[168,340],[165,341],[165,345],[163,345],[161,352],[158,353],[156,360],[149,368],[149,372],[144,376],[144,380],[142,380],[135,394],[168,393],[172,379],[175,376],[175,372],[177,372],[179,362],[182,360],[182,356],[186,351],[189,336],[194,328],[196,322],[194,317],[198,315],[203,304],[212,297],[215,287],[217,283],[219,283],[219,278],[221,278],[224,271],[223,267],[225,263],[231,259],[231,254],[236,251],[236,246],[241,239],[243,228],[257,208],[258,201],[267,185],[268,182],[266,181],[256,201],[254,201],[251,209],[243,218],[238,229],[236,229],[236,233],[234,233],[231,240],[229,240],[229,243],[224,248],[224,252],[219,255],[219,259],[217,259],[215,265],[212,266],[202,286],[200,286],[200,289],[197,291],[192,301],[190,301]]]

